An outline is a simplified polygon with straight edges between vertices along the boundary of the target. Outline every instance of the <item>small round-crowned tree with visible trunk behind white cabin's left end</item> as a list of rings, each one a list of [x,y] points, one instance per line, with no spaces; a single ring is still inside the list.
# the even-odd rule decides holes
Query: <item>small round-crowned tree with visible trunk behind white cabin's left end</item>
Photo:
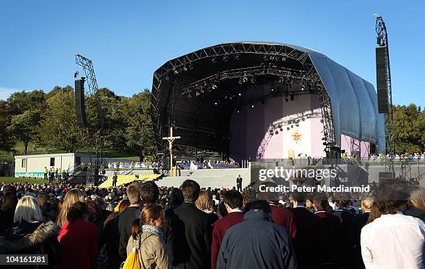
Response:
[[[40,111],[25,111],[12,116],[8,131],[16,139],[24,143],[24,153],[28,153],[28,143],[33,141],[38,134],[40,124]]]

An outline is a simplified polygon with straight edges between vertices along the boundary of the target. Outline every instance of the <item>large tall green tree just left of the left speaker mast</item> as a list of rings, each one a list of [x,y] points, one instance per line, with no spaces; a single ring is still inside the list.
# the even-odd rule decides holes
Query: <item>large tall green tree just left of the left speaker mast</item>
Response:
[[[47,107],[41,116],[38,140],[42,145],[66,152],[87,147],[87,133],[77,125],[72,87],[60,88],[47,99]]]

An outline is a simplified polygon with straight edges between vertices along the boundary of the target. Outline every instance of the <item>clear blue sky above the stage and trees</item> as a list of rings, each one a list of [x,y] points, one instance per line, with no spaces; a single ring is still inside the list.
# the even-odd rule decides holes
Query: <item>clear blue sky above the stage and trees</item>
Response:
[[[389,33],[395,104],[425,106],[424,1],[13,1],[0,3],[0,99],[73,85],[74,54],[100,87],[151,88],[167,60],[222,42],[285,42],[322,52],[376,85],[374,13]]]

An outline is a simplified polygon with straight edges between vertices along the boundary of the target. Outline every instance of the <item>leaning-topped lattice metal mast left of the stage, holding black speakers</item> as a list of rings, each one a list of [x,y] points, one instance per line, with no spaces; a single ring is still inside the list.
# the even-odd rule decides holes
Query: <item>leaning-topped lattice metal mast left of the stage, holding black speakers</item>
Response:
[[[104,138],[103,138],[103,111],[101,107],[99,88],[97,87],[96,75],[94,74],[94,68],[92,60],[89,58],[85,58],[80,54],[75,54],[75,63],[83,67],[85,78],[88,81],[89,95],[94,95],[96,99],[96,108],[97,108],[97,127],[99,132],[99,138],[96,139],[96,157],[94,160],[94,168],[99,171],[99,168],[104,167],[103,158],[103,146],[104,146]]]

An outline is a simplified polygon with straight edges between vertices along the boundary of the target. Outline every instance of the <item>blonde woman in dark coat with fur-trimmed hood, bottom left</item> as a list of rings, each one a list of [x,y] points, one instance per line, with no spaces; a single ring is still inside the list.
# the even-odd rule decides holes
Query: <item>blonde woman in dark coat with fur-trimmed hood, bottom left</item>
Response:
[[[54,222],[44,222],[35,197],[26,195],[19,199],[13,224],[0,237],[1,253],[47,254],[49,267],[60,263],[61,248],[58,242],[60,227]]]

